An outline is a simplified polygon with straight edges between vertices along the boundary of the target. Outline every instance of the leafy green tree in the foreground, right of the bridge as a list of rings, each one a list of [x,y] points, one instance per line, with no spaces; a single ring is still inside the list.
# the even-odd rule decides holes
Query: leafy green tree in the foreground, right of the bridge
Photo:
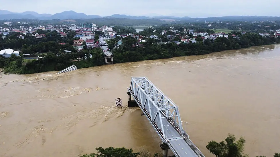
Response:
[[[245,142],[245,139],[242,137],[236,141],[234,134],[228,134],[225,141],[220,143],[210,141],[208,142],[206,148],[216,157],[248,157],[248,154],[243,153]],[[273,157],[280,157],[280,153],[275,153]]]

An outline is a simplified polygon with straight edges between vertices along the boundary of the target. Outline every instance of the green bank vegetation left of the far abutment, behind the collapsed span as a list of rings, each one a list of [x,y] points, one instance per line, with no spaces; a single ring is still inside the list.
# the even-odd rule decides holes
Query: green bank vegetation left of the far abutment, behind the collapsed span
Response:
[[[91,57],[90,57],[91,55]],[[101,48],[86,49],[78,53],[47,53],[40,54],[38,60],[24,60],[22,57],[12,55],[5,58],[0,55],[0,68],[5,73],[31,74],[46,71],[60,71],[73,64],[78,69],[103,65]]]

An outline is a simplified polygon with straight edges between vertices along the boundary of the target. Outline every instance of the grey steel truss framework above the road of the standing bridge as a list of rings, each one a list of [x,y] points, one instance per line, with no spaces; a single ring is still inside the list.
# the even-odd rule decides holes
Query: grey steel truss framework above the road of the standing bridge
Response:
[[[141,103],[147,117],[152,121],[161,138],[166,138],[166,128],[163,126],[162,118],[173,122],[182,136],[186,135],[183,129],[178,106],[170,100],[146,77],[132,77],[129,89]]]

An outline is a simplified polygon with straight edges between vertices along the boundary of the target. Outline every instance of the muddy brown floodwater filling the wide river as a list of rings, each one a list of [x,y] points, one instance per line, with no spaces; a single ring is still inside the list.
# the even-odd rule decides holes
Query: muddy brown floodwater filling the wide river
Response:
[[[76,157],[95,147],[160,152],[139,108],[128,108],[131,76],[146,76],[178,106],[191,140],[228,133],[245,153],[280,152],[280,45],[78,69],[60,75],[0,75],[0,156]],[[115,99],[123,99],[123,109]]]

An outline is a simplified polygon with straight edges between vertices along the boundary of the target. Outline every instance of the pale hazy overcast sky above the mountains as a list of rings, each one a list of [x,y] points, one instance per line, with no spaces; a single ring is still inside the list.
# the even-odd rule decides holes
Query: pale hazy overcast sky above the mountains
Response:
[[[1,10],[50,14],[73,10],[86,15],[100,16],[112,14],[178,17],[280,16],[277,9],[280,0],[0,0],[0,3]]]

